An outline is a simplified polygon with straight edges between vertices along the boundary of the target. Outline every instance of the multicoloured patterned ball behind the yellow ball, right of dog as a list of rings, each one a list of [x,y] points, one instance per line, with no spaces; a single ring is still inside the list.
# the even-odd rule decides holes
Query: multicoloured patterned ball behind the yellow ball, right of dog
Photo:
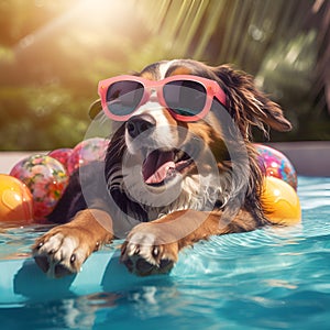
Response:
[[[277,177],[297,190],[297,173],[290,161],[279,151],[263,144],[255,144],[260,155],[258,162],[264,165],[266,176]]]

